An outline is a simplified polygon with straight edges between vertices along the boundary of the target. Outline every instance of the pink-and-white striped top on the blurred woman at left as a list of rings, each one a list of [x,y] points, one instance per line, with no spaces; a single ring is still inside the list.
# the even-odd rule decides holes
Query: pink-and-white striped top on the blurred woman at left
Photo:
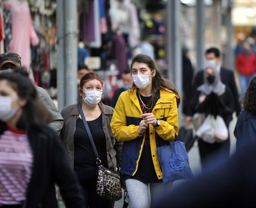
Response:
[[[25,131],[8,129],[0,136],[0,206],[26,199],[33,155]]]

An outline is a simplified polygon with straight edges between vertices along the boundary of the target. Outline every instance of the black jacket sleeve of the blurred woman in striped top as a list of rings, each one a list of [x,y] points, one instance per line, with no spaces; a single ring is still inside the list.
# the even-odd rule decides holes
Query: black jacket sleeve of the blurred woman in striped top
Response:
[[[60,188],[67,208],[83,208],[84,200],[79,182],[57,137],[57,135],[52,136],[50,149],[54,180]]]

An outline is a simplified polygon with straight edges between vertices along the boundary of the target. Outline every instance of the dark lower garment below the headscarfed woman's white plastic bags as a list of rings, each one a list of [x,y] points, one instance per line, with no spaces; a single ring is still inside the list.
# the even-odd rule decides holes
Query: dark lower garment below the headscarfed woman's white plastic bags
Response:
[[[202,170],[207,170],[209,166],[219,159],[227,159],[230,154],[230,138],[222,143],[215,142],[209,144],[203,139],[198,139],[198,147],[201,158]]]

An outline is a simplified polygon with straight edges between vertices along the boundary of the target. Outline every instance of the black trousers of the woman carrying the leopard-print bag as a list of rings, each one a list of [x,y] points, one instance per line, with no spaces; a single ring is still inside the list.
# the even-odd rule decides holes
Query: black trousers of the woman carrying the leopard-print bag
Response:
[[[113,208],[114,201],[103,199],[96,193],[96,181],[79,179],[82,194],[84,196],[85,208]]]

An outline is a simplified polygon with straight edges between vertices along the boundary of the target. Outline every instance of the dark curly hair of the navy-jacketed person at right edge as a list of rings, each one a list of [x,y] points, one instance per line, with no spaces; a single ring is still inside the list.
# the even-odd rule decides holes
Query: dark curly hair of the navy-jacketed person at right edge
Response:
[[[250,81],[242,97],[242,103],[244,110],[256,114],[256,77],[253,77]]]

